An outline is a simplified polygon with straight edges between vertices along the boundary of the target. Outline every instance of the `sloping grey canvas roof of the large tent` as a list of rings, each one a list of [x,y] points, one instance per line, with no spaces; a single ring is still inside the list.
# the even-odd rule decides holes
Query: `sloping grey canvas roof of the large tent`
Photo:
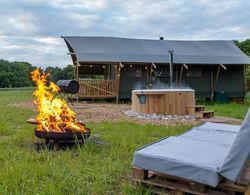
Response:
[[[63,36],[69,51],[79,62],[250,64],[233,41],[174,41],[116,37]]]

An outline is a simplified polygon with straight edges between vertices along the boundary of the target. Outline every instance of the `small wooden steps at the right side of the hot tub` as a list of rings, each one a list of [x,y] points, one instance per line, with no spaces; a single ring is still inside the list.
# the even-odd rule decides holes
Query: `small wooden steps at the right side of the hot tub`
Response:
[[[205,105],[187,106],[188,115],[196,115],[199,118],[212,118],[214,117],[213,110],[205,110]]]

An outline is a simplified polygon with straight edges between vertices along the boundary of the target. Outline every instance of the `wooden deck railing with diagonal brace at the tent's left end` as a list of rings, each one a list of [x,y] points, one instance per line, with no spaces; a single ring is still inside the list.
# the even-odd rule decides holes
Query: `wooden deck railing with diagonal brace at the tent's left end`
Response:
[[[116,80],[79,80],[79,98],[112,98],[118,96]]]

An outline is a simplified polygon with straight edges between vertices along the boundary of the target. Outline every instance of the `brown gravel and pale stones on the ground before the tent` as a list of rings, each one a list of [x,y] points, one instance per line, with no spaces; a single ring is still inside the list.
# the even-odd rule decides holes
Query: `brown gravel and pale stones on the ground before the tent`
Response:
[[[174,126],[179,124],[196,125],[199,123],[195,116],[178,115],[156,115],[141,114],[131,111],[131,104],[113,104],[113,103],[92,103],[87,101],[69,103],[71,109],[76,112],[77,120],[84,123],[101,121],[128,121],[140,125],[154,124]],[[11,106],[31,109],[35,111],[35,105],[32,101],[19,102]]]

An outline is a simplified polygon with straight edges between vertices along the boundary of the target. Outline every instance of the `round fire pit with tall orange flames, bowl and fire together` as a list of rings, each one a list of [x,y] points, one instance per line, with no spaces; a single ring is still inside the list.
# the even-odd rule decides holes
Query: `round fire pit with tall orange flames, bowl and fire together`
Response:
[[[91,130],[82,122],[76,121],[66,101],[58,97],[60,88],[47,82],[48,74],[40,73],[39,69],[32,72],[32,80],[37,84],[34,91],[38,114],[27,122],[37,124],[35,135],[45,139],[46,144],[59,142],[77,142],[90,136]]]

